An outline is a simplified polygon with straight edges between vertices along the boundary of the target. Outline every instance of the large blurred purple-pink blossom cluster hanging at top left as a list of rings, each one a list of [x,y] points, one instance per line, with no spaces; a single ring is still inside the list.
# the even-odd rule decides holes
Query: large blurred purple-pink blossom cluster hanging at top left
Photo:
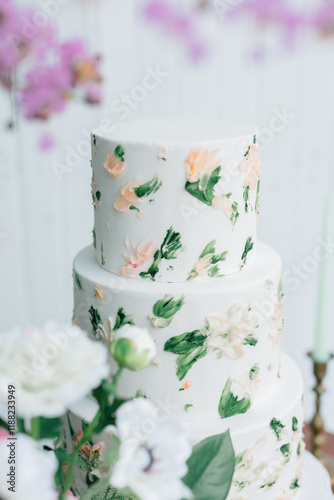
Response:
[[[78,97],[100,103],[100,58],[82,40],[58,43],[51,22],[38,19],[33,9],[0,3],[0,85],[28,120],[48,120]]]

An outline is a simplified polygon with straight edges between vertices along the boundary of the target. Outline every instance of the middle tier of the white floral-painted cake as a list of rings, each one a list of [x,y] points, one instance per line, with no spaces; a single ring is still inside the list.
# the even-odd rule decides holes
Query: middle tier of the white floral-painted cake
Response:
[[[154,365],[123,371],[121,395],[140,391],[188,420],[246,413],[272,392],[280,376],[282,305],[281,260],[263,243],[243,273],[202,283],[121,278],[97,264],[92,247],[74,260],[74,320],[81,328],[110,342],[115,324],[131,321],[156,343]]]

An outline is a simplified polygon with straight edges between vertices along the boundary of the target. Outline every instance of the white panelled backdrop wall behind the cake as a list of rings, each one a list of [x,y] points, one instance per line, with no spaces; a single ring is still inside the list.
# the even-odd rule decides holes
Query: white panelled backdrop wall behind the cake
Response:
[[[39,9],[43,4],[20,3]],[[212,54],[195,65],[180,43],[143,19],[143,0],[54,3],[61,38],[85,34],[91,50],[103,54],[105,99],[99,108],[71,104],[47,124],[21,120],[15,131],[0,129],[1,330],[71,317],[72,259],[91,242],[93,226],[87,134],[101,120],[124,119],[119,110],[123,94],[132,95],[133,103],[126,119],[224,115],[253,121],[263,143],[259,236],[283,259],[283,345],[303,371],[309,419],[313,378],[306,352],[313,342],[318,278],[312,256],[324,196],[329,185],[334,188],[333,41],[305,34],[293,50],[278,50],[275,31],[250,20],[222,22],[203,11],[200,29]],[[175,1],[186,3],[191,1]],[[266,54],[261,62],[251,57],[254,47]],[[165,73],[162,81],[136,100],[136,87],[157,66]],[[0,106],[5,125],[10,108],[2,91]],[[283,121],[275,119],[282,115]],[[37,147],[45,130],[57,141],[47,153]],[[73,157],[73,150],[76,159],[69,163],[66,157],[69,151]],[[70,166],[62,182],[55,162]],[[324,402],[326,424],[334,431],[334,362],[326,383],[332,386]]]

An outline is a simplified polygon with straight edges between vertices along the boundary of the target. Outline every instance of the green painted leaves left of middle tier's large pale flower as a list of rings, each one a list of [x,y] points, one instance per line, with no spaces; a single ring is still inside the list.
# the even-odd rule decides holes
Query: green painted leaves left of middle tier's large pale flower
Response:
[[[178,354],[176,360],[176,375],[182,380],[190,368],[207,354],[205,341],[207,329],[186,332],[177,337],[172,337],[165,343],[164,351]]]

